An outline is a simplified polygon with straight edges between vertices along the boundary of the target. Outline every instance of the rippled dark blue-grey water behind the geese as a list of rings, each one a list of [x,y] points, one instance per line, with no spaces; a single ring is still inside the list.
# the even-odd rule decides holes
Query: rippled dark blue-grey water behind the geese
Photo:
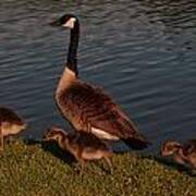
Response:
[[[79,75],[105,87],[158,147],[196,138],[195,1],[0,2],[0,103],[17,110],[39,139],[68,127],[53,91],[69,32],[48,25],[64,13],[81,19]]]

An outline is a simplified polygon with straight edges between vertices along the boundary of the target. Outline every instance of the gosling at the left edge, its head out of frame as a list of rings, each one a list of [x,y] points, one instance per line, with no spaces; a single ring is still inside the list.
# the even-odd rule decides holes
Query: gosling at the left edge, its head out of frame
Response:
[[[3,137],[14,135],[26,127],[26,123],[13,110],[0,107],[0,151],[3,151]]]

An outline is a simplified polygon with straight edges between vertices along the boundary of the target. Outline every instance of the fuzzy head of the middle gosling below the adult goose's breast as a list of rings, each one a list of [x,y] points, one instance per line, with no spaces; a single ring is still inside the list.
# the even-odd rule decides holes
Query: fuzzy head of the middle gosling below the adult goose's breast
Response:
[[[64,138],[66,136],[66,133],[56,126],[52,126],[51,128],[49,128],[46,134],[44,135],[42,140],[57,140],[60,142],[62,138]]]

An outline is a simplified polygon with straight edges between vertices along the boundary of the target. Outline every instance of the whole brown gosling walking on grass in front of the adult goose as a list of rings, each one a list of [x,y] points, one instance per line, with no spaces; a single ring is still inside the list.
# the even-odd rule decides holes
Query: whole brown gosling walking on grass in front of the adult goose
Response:
[[[112,173],[112,164],[110,157],[112,150],[99,138],[90,133],[74,132],[68,133],[59,127],[51,127],[44,136],[44,140],[57,140],[63,150],[68,150],[81,163],[83,173],[86,161],[98,160],[103,158],[107,162],[110,173]]]

